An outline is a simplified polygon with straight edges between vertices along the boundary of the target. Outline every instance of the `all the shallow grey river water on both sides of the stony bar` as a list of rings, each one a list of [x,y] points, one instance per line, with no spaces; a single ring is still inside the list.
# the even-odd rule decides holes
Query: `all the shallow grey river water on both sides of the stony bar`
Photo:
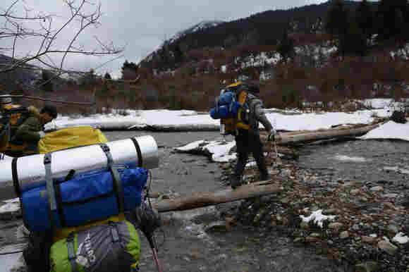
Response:
[[[197,140],[219,140],[218,132],[104,132],[109,140],[152,135],[159,147],[159,168],[152,170],[152,192],[185,197],[193,192],[214,192],[225,187],[221,169],[206,156],[178,154],[173,147]],[[228,138],[228,140],[232,140]],[[300,172],[326,180],[362,180],[365,183],[408,181],[408,142],[347,141],[310,144],[300,149]],[[11,198],[11,197],[8,197]],[[325,255],[315,253],[274,228],[261,232],[248,225],[230,231],[206,232],[224,211],[240,202],[190,211],[161,214],[164,225],[157,233],[162,271],[350,271]],[[3,231],[3,230],[2,230]],[[10,232],[12,233],[12,232]],[[3,235],[2,243],[10,242]],[[157,271],[145,237],[140,271]]]

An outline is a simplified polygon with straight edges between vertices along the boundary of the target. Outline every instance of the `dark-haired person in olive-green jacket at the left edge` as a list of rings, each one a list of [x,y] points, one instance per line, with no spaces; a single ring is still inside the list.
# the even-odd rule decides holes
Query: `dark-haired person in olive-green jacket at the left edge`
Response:
[[[35,106],[29,106],[30,115],[17,128],[16,134],[11,139],[11,146],[20,146],[16,149],[15,156],[27,156],[38,154],[38,142],[44,137],[44,125],[51,122],[57,117],[57,109],[55,106],[44,106],[41,111],[38,111]],[[10,153],[10,152],[9,152]]]

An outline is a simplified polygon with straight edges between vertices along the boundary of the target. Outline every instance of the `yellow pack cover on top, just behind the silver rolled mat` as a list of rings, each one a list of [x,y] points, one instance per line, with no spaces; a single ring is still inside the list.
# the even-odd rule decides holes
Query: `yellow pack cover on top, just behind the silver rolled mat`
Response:
[[[45,154],[61,149],[82,147],[102,142],[108,142],[108,140],[106,140],[106,137],[101,130],[90,126],[81,126],[75,128],[63,128],[62,130],[46,133],[46,135],[39,140],[38,147],[39,153]]]

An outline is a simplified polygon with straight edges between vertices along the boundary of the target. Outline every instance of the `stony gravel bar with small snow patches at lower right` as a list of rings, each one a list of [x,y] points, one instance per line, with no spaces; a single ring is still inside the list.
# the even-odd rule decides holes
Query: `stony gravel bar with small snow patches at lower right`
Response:
[[[270,148],[271,147],[267,147]],[[296,157],[296,156],[295,156]],[[257,166],[244,180],[257,180]],[[352,271],[409,271],[409,185],[334,180],[300,169],[294,159],[267,156],[271,176],[283,178],[282,192],[247,199],[224,212],[230,225],[243,224],[268,233],[279,231]],[[221,164],[228,186],[231,163]]]

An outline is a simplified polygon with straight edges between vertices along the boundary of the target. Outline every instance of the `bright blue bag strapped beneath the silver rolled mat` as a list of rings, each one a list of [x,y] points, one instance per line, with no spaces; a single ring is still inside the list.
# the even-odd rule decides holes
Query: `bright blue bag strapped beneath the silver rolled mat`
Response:
[[[53,180],[56,209],[51,212],[47,186],[23,192],[23,220],[32,231],[48,231],[84,225],[123,211],[142,202],[148,172],[145,168],[116,167]]]

